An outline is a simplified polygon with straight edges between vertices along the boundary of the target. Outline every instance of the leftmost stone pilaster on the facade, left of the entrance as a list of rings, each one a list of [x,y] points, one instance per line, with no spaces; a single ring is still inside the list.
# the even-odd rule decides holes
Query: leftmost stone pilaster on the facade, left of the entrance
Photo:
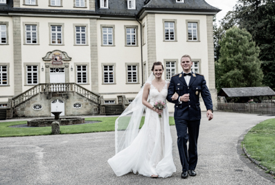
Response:
[[[12,17],[15,96],[22,93],[21,17]]]

